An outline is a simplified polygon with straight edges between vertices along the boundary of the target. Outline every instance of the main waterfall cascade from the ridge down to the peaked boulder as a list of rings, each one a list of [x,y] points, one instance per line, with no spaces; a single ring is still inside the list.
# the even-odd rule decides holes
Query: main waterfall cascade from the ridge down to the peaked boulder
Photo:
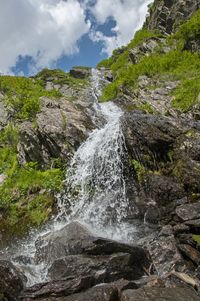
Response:
[[[100,95],[98,71],[93,71],[93,94]],[[94,103],[95,115],[105,119],[75,153],[66,175],[66,192],[59,200],[60,216],[84,222],[98,233],[117,233],[127,209],[123,175],[123,112],[112,102]],[[102,230],[105,229],[104,232]]]

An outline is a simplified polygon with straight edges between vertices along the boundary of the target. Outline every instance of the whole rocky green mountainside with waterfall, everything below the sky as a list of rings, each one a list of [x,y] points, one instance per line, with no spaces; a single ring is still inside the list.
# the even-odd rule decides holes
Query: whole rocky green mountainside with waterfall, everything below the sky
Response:
[[[155,0],[97,69],[0,77],[2,254],[65,225],[0,261],[2,300],[200,300],[200,0]]]

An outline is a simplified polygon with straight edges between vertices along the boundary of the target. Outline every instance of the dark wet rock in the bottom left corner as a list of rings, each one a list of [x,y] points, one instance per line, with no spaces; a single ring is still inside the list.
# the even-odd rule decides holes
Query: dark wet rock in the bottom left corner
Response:
[[[19,300],[24,289],[25,277],[19,273],[9,261],[0,261],[0,298],[3,300]]]

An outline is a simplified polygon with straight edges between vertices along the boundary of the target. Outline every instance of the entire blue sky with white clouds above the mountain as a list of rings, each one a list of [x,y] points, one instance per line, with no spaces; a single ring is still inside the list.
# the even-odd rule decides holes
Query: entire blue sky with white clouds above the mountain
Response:
[[[0,0],[0,72],[95,66],[141,27],[152,0]]]

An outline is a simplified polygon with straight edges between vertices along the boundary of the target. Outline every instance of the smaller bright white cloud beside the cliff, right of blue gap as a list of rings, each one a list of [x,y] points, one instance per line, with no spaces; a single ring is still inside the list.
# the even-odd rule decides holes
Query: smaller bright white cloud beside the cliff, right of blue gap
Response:
[[[116,22],[112,29],[115,36],[110,37],[102,32],[92,32],[93,41],[102,41],[103,51],[111,54],[122,45],[126,45],[145,19],[147,6],[152,0],[97,0],[91,11],[99,24],[104,24],[109,18]]]

